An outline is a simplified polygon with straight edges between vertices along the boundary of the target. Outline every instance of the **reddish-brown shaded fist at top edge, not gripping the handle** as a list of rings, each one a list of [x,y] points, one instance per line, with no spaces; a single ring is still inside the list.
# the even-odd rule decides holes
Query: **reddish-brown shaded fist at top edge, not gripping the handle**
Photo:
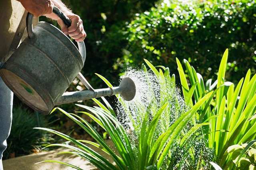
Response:
[[[24,8],[34,16],[52,13],[51,0],[18,0]]]

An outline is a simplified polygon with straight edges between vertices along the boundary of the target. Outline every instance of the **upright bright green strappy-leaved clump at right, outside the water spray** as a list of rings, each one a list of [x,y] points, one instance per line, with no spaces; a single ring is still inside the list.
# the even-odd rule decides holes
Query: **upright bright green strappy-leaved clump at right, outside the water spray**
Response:
[[[184,59],[188,83],[177,59],[182,91],[190,106],[196,104],[204,94],[212,92],[212,96],[198,110],[197,118],[199,122],[210,123],[204,133],[208,136],[208,147],[215,149],[216,162],[222,168],[232,164],[230,156],[224,154],[230,145],[242,144],[256,136],[256,75],[251,78],[249,69],[238,85],[225,81],[227,60],[228,49],[220,62],[217,80],[212,83],[212,79],[209,79],[204,83],[202,76]]]

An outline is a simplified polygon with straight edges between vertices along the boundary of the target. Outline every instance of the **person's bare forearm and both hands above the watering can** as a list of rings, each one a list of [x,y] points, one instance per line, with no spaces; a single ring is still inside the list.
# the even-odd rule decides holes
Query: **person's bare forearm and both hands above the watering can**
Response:
[[[18,0],[24,8],[34,16],[46,16],[52,20],[57,20],[64,34],[71,36],[77,42],[81,42],[86,37],[82,20],[78,15],[72,13],[61,0]],[[71,20],[71,26],[67,28],[63,21],[52,12],[52,6],[57,6]]]

